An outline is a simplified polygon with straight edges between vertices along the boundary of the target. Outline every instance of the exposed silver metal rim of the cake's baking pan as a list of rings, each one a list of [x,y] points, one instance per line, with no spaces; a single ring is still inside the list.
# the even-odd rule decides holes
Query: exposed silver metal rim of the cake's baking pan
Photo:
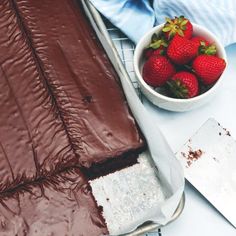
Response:
[[[121,77],[124,77],[128,80],[130,80],[130,77],[121,61],[121,58],[116,50],[115,45],[113,44],[113,41],[107,31],[106,25],[103,21],[103,18],[101,17],[100,13],[96,10],[96,8],[90,3],[89,0],[81,0],[85,13],[88,16],[91,25],[93,26],[100,42],[102,43],[109,59],[111,60],[117,74]],[[183,194],[180,203],[173,214],[171,220],[168,222],[171,223],[175,219],[179,217],[179,215],[182,213],[183,208],[185,205],[185,196]],[[152,232],[157,230],[158,228],[161,228],[162,225],[156,224],[156,223],[145,223],[142,226],[138,227],[135,231],[126,234],[126,236],[138,236],[138,235],[144,235],[145,233]]]

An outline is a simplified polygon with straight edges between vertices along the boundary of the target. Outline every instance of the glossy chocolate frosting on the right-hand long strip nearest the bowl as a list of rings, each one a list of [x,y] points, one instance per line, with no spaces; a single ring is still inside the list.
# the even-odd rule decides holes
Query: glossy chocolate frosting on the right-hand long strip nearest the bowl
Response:
[[[117,75],[79,3],[14,2],[80,165],[143,147]]]

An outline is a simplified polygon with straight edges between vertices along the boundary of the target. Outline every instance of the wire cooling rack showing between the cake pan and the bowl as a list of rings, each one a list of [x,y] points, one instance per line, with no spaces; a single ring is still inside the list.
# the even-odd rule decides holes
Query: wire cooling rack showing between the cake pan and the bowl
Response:
[[[142,99],[142,93],[140,91],[139,84],[135,77],[134,73],[134,66],[133,66],[133,56],[134,56],[134,43],[127,38],[118,28],[112,25],[108,20],[103,19],[104,23],[107,27],[107,31],[116,47],[116,50],[119,53],[121,61],[123,62],[126,71],[130,77],[130,80],[135,88],[136,93],[138,94],[139,98]]]

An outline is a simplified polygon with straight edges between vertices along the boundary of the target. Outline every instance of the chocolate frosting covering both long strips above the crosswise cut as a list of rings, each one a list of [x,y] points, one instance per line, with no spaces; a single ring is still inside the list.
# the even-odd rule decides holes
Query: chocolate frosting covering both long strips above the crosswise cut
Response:
[[[144,142],[73,0],[0,3],[0,192]]]

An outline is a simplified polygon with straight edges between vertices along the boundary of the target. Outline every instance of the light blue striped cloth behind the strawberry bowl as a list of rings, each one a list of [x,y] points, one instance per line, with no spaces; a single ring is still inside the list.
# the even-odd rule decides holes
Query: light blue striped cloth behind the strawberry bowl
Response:
[[[236,42],[235,0],[90,0],[135,43],[165,17],[184,15],[205,26],[223,45]]]

